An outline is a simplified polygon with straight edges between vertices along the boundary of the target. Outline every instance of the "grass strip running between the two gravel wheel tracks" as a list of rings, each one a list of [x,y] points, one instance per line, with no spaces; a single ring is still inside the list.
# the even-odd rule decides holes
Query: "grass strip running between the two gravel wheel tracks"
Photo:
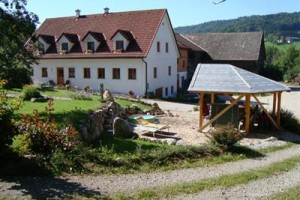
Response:
[[[160,199],[178,196],[181,194],[195,194],[204,190],[213,190],[216,187],[229,188],[240,184],[247,184],[269,176],[280,174],[294,168],[300,163],[300,156],[277,162],[271,166],[257,170],[246,171],[233,175],[223,175],[193,183],[177,184],[173,186],[140,190],[136,193],[117,194],[113,199]]]

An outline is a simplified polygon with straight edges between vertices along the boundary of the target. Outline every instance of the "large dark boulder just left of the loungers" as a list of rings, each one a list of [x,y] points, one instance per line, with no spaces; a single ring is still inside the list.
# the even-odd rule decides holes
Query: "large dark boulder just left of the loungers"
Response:
[[[132,138],[133,130],[125,120],[120,117],[116,117],[113,123],[113,135],[116,137]]]

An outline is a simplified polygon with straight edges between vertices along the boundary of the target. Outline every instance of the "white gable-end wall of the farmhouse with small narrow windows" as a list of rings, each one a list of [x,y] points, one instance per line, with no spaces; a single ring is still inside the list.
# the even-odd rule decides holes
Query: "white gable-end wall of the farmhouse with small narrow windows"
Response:
[[[160,42],[160,52],[157,52],[157,42]],[[169,50],[166,52],[166,43]],[[155,92],[156,89],[163,87],[163,97],[175,96],[177,93],[177,57],[178,49],[173,37],[173,29],[167,15],[164,16],[156,37],[153,40],[149,54],[145,61],[148,63],[148,92]],[[171,75],[168,68],[171,66]],[[157,68],[157,78],[154,78],[154,68]],[[171,94],[173,87],[173,94]],[[168,95],[165,94],[168,88]]]

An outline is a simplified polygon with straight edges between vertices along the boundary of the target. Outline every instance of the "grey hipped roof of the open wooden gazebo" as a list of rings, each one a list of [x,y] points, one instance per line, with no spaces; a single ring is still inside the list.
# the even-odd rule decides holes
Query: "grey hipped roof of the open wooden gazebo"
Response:
[[[291,89],[271,79],[230,64],[198,64],[189,92],[272,93]]]

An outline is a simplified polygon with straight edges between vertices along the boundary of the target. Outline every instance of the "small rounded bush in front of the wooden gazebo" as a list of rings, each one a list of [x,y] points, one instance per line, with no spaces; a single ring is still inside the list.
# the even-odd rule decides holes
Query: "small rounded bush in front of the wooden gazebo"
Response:
[[[243,138],[241,134],[233,125],[220,125],[212,132],[212,144],[217,145],[222,150],[228,150]]]

